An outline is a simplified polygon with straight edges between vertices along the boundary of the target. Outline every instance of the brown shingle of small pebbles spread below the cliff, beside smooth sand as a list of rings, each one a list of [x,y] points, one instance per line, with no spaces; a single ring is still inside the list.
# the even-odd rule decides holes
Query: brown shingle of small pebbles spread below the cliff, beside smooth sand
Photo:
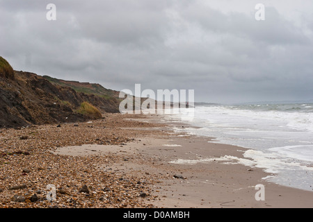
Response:
[[[0,140],[0,161],[3,162],[0,207],[152,207],[143,197],[153,198],[150,196],[153,173],[149,175],[143,171],[137,175],[125,173],[122,169],[114,172],[103,170],[102,166],[111,167],[115,163],[126,165],[128,162],[145,161],[134,157],[134,154],[93,152],[95,155],[70,156],[51,153],[58,147],[95,142],[126,145],[139,136],[154,135],[153,130],[121,129],[150,126],[150,123],[142,125],[123,118],[134,119],[134,115],[125,114],[121,118],[120,114],[106,114],[106,121],[93,121],[93,128],[88,128],[88,123],[64,123],[58,130],[56,125],[1,129],[1,137],[8,139]],[[21,133],[28,135],[28,139],[19,139]],[[137,185],[138,181],[141,185]],[[48,189],[47,185],[56,188]],[[52,192],[52,197],[54,191],[56,200],[47,200],[47,194]]]

